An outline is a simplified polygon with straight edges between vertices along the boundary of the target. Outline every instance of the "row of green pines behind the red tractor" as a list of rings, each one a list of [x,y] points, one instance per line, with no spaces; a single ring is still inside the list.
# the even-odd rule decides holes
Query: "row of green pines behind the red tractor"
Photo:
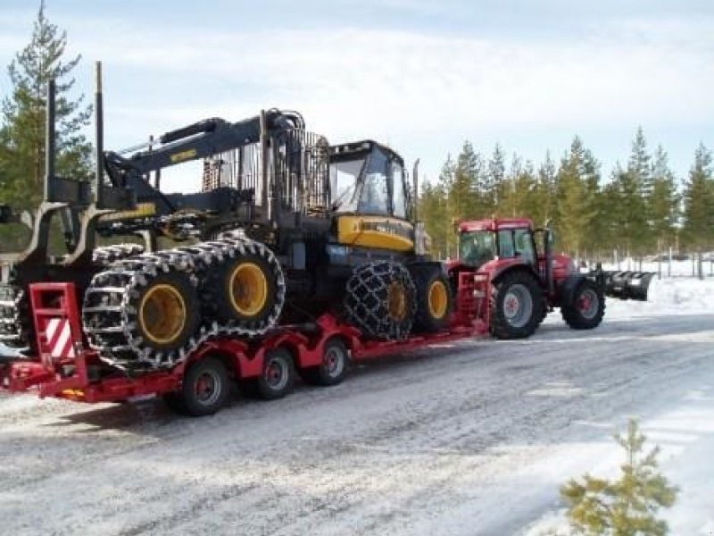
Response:
[[[714,248],[714,165],[700,144],[688,176],[677,178],[663,147],[648,150],[642,128],[627,165],[607,177],[577,136],[560,162],[546,153],[537,166],[516,154],[507,163],[499,145],[482,155],[466,141],[436,183],[423,183],[419,214],[441,257],[455,255],[455,222],[491,217],[551,221],[557,249],[580,257],[702,250]]]

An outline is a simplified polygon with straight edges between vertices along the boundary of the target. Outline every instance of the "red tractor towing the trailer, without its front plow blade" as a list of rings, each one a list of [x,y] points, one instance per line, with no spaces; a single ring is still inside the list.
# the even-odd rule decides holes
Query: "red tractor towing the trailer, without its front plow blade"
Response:
[[[580,273],[569,256],[552,255],[547,225],[534,229],[525,218],[477,220],[459,223],[458,232],[459,258],[448,263],[453,288],[462,272],[488,276],[489,328],[495,337],[529,337],[555,307],[576,330],[602,322],[602,272]]]

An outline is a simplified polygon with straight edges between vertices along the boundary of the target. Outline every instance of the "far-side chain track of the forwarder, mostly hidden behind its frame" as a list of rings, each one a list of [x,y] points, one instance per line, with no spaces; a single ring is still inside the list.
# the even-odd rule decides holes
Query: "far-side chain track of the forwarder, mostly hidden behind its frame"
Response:
[[[92,251],[94,264],[107,265],[144,252],[139,244],[116,244],[96,247]],[[29,348],[32,318],[29,297],[20,285],[0,285],[0,343],[10,348]]]

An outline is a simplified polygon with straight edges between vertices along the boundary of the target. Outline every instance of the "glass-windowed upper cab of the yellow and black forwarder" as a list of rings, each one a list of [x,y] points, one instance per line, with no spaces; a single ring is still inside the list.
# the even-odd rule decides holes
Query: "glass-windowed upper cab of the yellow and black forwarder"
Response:
[[[409,216],[402,157],[365,140],[330,147],[330,205],[336,214]]]

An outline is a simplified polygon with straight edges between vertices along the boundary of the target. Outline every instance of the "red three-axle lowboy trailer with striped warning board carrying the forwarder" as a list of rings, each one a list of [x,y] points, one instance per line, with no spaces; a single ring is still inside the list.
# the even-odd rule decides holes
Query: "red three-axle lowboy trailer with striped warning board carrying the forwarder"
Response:
[[[464,271],[454,278],[452,314],[443,331],[403,340],[366,339],[360,330],[327,313],[310,324],[278,326],[259,339],[209,339],[179,364],[145,373],[105,364],[87,345],[72,283],[33,283],[29,293],[37,355],[0,361],[0,386],[87,403],[156,395],[179,413],[210,415],[226,404],[231,381],[260,398],[280,398],[298,373],[308,383],[335,385],[344,379],[350,360],[486,335],[488,276]]]

